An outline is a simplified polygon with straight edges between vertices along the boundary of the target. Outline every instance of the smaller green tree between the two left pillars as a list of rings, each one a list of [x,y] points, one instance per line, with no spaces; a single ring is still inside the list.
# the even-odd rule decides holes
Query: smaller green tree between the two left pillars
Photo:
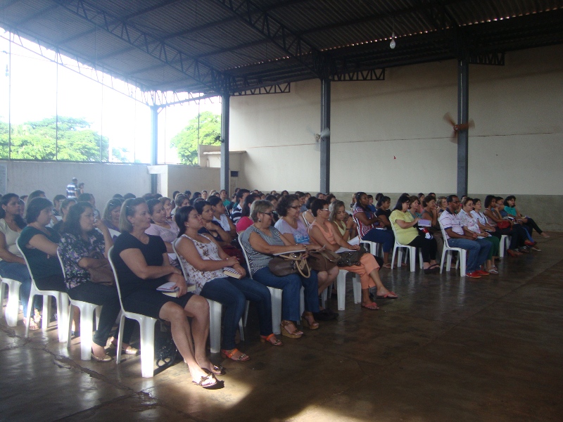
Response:
[[[217,136],[221,135],[221,116],[210,111],[199,115],[199,143],[202,145],[220,145]],[[198,164],[198,117],[194,117],[179,134],[174,136],[170,145],[178,151],[182,164]]]

